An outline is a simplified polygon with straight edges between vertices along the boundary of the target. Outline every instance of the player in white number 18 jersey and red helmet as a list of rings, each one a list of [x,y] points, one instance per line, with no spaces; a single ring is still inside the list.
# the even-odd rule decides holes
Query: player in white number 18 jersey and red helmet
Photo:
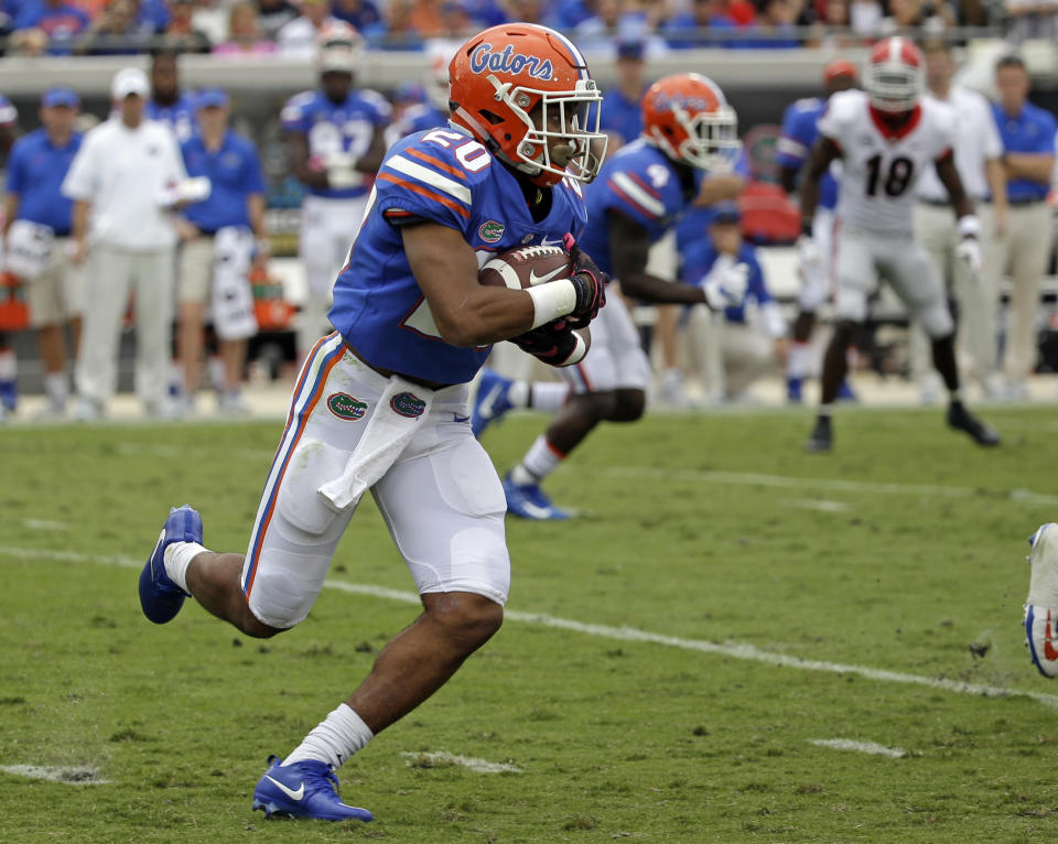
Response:
[[[980,445],[997,445],[998,434],[962,403],[956,367],[954,324],[940,277],[915,239],[915,183],[937,167],[948,191],[962,241],[958,255],[980,273],[980,223],[956,170],[951,148],[954,116],[943,104],[921,98],[922,58],[906,39],[879,42],[863,76],[864,90],[834,94],[819,118],[820,138],[801,187],[802,250],[810,250],[819,182],[834,159],[842,160],[835,238],[834,335],[823,358],[822,401],[807,448],[830,451],[831,408],[845,379],[846,353],[867,317],[875,278],[889,282],[932,340],[933,366],[951,400],[948,424]]]

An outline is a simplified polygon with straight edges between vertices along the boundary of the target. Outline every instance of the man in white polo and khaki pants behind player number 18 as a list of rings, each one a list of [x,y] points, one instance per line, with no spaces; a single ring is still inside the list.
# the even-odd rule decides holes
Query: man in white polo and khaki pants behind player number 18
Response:
[[[1003,172],[1003,142],[992,118],[992,107],[981,94],[952,86],[956,65],[946,42],[924,45],[927,97],[947,104],[956,113],[956,169],[967,195],[976,205],[981,219],[981,251],[985,266],[995,256],[995,235],[1006,227],[1006,177]],[[958,349],[969,360],[971,374],[985,393],[998,398],[1003,382],[996,364],[996,296],[990,292],[982,272],[974,272],[954,252],[959,244],[956,215],[948,193],[932,167],[918,182],[915,228],[922,245],[940,270],[950,297],[957,303]],[[941,385],[930,363],[929,344],[921,326],[911,326],[911,378],[921,390],[922,401],[940,398]]]

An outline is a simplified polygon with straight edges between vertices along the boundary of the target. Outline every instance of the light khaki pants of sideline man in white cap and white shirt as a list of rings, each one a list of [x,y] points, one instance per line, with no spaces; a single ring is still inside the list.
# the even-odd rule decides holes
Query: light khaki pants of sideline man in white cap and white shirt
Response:
[[[96,245],[88,258],[85,315],[75,379],[102,405],[118,386],[121,321],[136,299],[136,392],[149,405],[166,394],[173,331],[173,249],[130,252]]]

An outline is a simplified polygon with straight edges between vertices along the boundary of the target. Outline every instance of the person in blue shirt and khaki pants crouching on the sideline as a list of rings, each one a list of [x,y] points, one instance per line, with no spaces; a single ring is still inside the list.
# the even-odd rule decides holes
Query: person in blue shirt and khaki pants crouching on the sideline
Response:
[[[786,359],[786,322],[768,291],[757,251],[742,238],[734,203],[716,206],[706,236],[688,245],[684,274],[691,283],[745,286],[741,301],[712,314],[700,333],[704,353],[702,375],[714,401],[738,401],[760,376]],[[692,320],[710,314],[692,309]]]

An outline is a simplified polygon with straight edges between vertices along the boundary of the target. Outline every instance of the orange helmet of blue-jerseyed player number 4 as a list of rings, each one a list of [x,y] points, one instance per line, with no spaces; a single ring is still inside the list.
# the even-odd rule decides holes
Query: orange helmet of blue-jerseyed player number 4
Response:
[[[714,173],[730,171],[742,142],[738,119],[723,91],[700,74],[666,76],[643,96],[647,139],[672,161]]]

